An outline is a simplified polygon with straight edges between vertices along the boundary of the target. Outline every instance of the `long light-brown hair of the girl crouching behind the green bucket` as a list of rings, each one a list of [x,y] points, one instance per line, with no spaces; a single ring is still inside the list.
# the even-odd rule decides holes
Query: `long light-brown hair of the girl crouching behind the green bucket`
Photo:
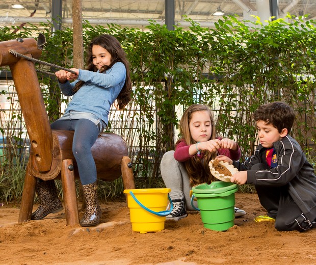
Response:
[[[188,145],[196,144],[197,142],[193,140],[189,124],[192,119],[193,113],[197,111],[206,111],[209,114],[210,122],[212,124],[212,135],[208,140],[216,139],[216,127],[214,122],[214,117],[210,109],[207,105],[204,104],[193,104],[191,105],[182,115],[182,118],[179,123],[180,134],[182,140],[184,139]],[[181,141],[181,140],[179,140]],[[191,187],[204,183],[204,182],[211,182],[215,180],[212,174],[210,174],[208,163],[210,160],[214,159],[216,156],[216,152],[208,152],[204,151],[203,159],[194,156],[185,162],[185,166],[188,172],[188,176],[190,179]]]

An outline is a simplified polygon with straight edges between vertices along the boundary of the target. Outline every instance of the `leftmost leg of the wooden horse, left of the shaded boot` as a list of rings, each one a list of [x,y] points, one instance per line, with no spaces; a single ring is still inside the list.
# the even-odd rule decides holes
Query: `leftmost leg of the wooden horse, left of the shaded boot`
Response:
[[[19,223],[27,222],[31,220],[35,188],[36,188],[37,178],[31,173],[31,164],[28,163],[27,170],[25,173],[24,187],[22,194],[22,201],[20,206]]]

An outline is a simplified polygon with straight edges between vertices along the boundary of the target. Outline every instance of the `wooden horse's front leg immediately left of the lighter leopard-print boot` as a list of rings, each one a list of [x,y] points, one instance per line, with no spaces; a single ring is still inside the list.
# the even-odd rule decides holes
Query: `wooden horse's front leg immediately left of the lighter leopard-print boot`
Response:
[[[79,224],[79,214],[77,205],[76,188],[74,182],[73,163],[71,159],[65,159],[61,168],[66,225]]]

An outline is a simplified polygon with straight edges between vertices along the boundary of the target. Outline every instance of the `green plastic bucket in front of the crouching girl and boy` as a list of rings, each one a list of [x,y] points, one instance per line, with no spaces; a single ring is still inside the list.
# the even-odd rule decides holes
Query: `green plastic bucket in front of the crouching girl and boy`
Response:
[[[224,181],[202,183],[192,187],[191,205],[200,211],[205,228],[226,231],[234,225],[236,191],[236,184]],[[195,197],[198,208],[193,205]]]

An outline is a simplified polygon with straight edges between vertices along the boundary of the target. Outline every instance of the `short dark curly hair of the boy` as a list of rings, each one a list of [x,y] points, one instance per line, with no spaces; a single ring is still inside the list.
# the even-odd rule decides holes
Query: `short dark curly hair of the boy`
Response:
[[[283,128],[289,133],[292,129],[295,112],[288,104],[282,101],[261,105],[253,114],[255,121],[262,120],[272,124],[281,133]]]

